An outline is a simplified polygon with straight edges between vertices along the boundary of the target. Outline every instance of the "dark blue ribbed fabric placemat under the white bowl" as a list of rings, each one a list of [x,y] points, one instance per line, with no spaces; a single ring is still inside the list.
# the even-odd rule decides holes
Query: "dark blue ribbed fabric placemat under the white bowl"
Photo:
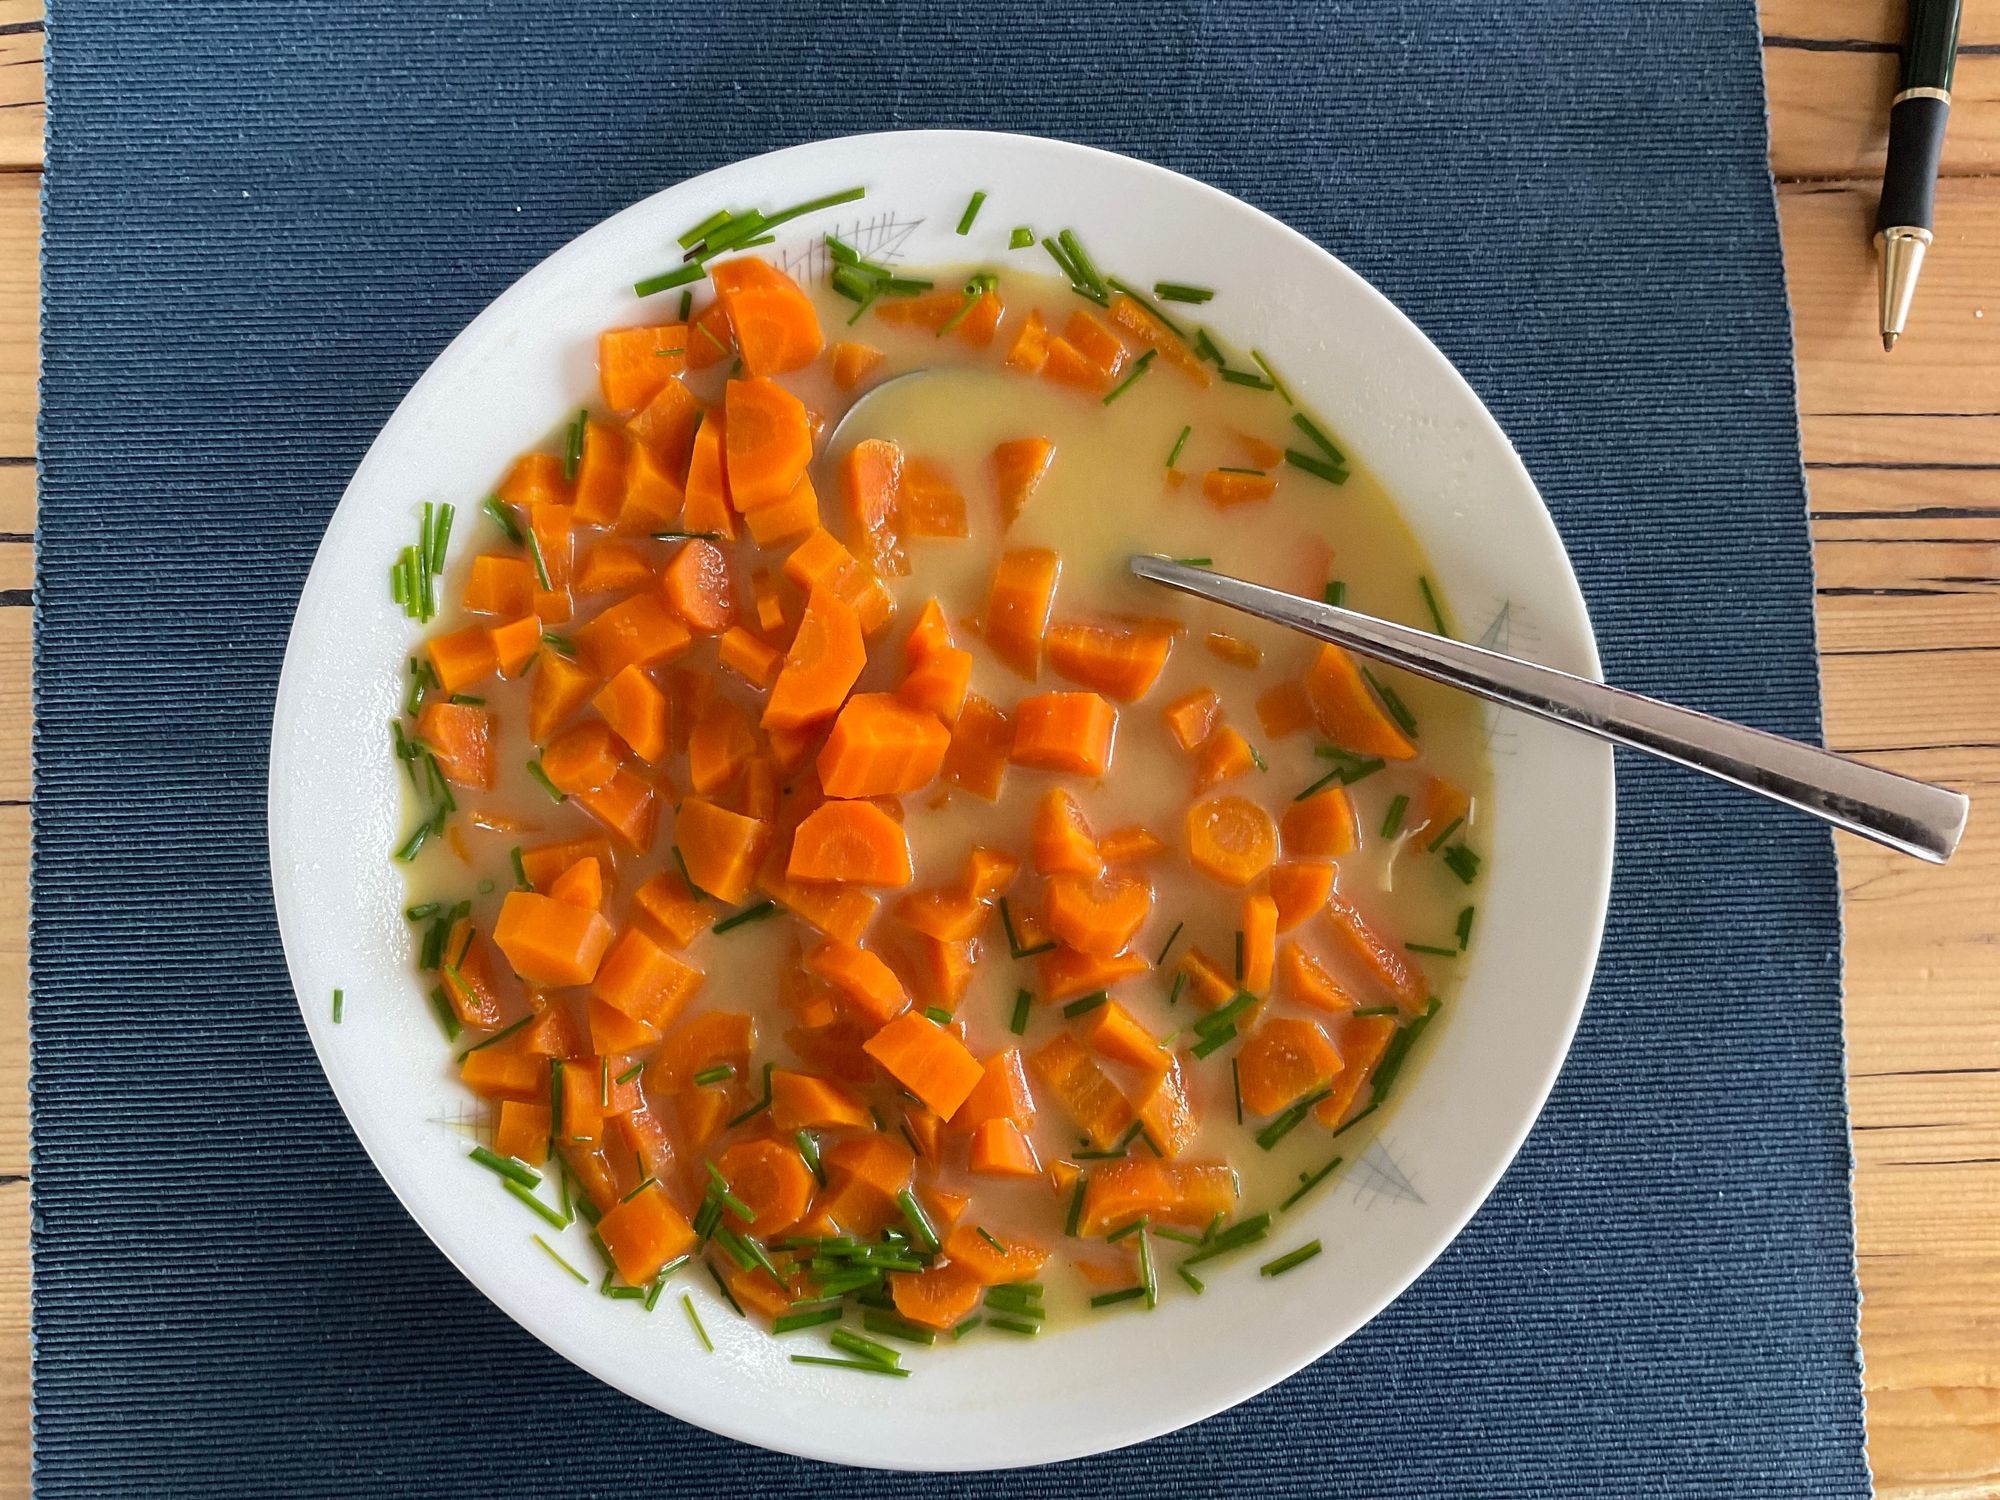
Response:
[[[1866,1490],[1832,848],[1748,798],[1622,762],[1562,1084],[1394,1308],[1198,1428],[964,1480],[712,1438],[486,1304],[320,1080],[262,852],[292,602],[424,364],[654,188],[884,126],[1070,136],[1300,226],[1514,434],[1612,678],[1816,734],[1752,0],[50,12],[42,1494]]]

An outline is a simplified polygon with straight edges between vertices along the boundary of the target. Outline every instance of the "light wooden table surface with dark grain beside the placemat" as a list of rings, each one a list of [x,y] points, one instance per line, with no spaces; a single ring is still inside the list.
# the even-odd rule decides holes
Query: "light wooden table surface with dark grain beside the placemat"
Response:
[[[42,6],[0,0],[0,1494],[28,1474],[28,624]],[[1900,0],[1764,0],[1826,736],[2000,794],[2000,0],[1966,0],[1938,242],[1876,338]],[[1992,298],[1988,308],[1986,298]],[[1868,1454],[2000,1494],[2000,820],[1946,870],[1842,838]]]

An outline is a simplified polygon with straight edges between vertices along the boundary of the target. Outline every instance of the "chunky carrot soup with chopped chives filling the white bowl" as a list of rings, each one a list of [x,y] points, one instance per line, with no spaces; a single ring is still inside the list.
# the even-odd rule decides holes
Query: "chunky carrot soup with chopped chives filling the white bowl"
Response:
[[[700,1264],[824,1324],[794,1358],[902,1374],[884,1340],[1318,1252],[1286,1218],[1472,938],[1484,736],[1130,576],[1444,628],[1262,360],[1102,282],[834,258],[606,332],[450,564],[426,508],[396,858],[474,1156],[550,1256],[646,1310]]]

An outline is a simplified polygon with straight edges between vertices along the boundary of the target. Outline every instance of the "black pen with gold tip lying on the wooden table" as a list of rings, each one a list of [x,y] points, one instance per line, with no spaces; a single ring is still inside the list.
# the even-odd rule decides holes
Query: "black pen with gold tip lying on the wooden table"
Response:
[[[1952,62],[1958,56],[1960,0],[1910,0],[1902,80],[1888,108],[1888,162],[1876,212],[1882,260],[1882,348],[1896,348],[1910,320],[1916,276],[1930,250],[1930,208],[1944,154],[1944,118],[1952,112]]]

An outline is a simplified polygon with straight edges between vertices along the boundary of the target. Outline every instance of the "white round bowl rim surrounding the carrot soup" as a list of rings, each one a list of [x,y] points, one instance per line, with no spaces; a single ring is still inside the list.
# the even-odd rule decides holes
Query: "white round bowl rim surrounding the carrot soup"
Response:
[[[292,622],[270,752],[272,884],[306,1030],[354,1132],[424,1232],[528,1332],[662,1412],[766,1448],[916,1470],[1042,1464],[1266,1390],[1368,1322],[1458,1234],[1534,1124],[1582,1010],[1610,886],[1612,758],[1582,736],[1490,720],[1496,820],[1460,996],[1376,1144],[1296,1212],[1288,1240],[1316,1234],[1326,1254],[1282,1282],[1236,1266],[1154,1314],[938,1346],[910,1380],[790,1364],[796,1344],[730,1316],[700,1276],[678,1278],[652,1316],[568,1282],[524,1210],[466,1160],[464,1134],[440,1124],[470,1118],[472,1100],[446,1066],[388,860],[402,828],[386,720],[416,638],[390,604],[388,562],[414,536],[418,500],[452,500],[466,530],[480,524],[506,456],[594,388],[596,332],[672,306],[640,308],[630,288],[672,264],[680,230],[720,206],[778,208],[856,182],[864,202],[784,226],[774,250],[796,256],[826,230],[892,218],[896,232],[870,242],[922,266],[996,252],[1014,224],[1068,224],[1132,282],[1222,288],[1216,326],[1266,350],[1400,498],[1458,618],[1500,620],[1504,646],[1598,674],[1576,578],[1506,436],[1416,326],[1310,240],[1200,182],[1084,146],[982,132],[822,140],[598,224],[412,386],[348,484]],[[972,188],[986,206],[958,238]],[[682,1290],[714,1354],[690,1336]],[[1480,1316],[1464,1310],[1468,1326]]]

